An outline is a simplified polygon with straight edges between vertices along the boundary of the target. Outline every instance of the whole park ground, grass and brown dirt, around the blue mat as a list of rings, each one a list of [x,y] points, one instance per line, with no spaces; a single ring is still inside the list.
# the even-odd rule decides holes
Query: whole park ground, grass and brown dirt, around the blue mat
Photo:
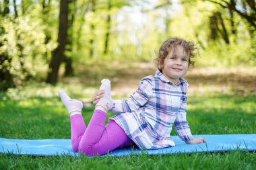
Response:
[[[92,95],[100,79],[112,81],[114,99],[127,98],[139,80],[154,75],[152,63],[77,66],[75,77],[60,77],[55,86],[28,83],[0,93],[2,138],[70,138],[69,118],[57,95],[64,89],[84,101],[90,121]],[[104,69],[102,69],[104,68]],[[187,120],[193,134],[256,134],[256,67],[193,68],[189,81]],[[108,113],[108,117],[114,113]],[[177,135],[172,130],[171,135]],[[0,154],[0,169],[256,169],[256,153],[230,151],[128,157],[32,157]]]

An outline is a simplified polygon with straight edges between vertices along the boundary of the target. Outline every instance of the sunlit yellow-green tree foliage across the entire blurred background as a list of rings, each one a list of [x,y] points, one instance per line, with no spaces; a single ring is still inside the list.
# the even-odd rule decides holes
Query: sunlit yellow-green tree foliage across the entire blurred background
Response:
[[[51,53],[57,47],[59,1],[42,2],[16,1],[18,17],[13,12],[0,15],[0,55],[9,59],[1,64],[0,71],[6,66],[15,85],[24,85],[30,79],[44,81]],[[73,66],[150,61],[169,36],[194,40],[200,48],[197,65],[201,67],[255,65],[255,30],[237,13],[231,18],[228,9],[209,1],[92,2],[76,0],[69,5],[71,44],[65,55]],[[210,17],[216,12],[221,14],[229,43],[224,41],[220,18],[216,40],[210,37]]]

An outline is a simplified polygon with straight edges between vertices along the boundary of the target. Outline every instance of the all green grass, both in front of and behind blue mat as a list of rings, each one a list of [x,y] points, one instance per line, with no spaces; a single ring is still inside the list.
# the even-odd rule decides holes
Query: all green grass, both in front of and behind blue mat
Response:
[[[58,87],[18,89],[0,94],[2,138],[70,138],[69,117]],[[48,90],[46,90],[48,89]],[[83,94],[69,89],[73,97]],[[38,95],[40,94],[40,95]],[[86,92],[86,95],[91,95]],[[15,99],[13,96],[16,96]],[[256,133],[256,96],[189,96],[187,119],[193,134]],[[83,110],[86,124],[93,108]],[[110,113],[108,116],[113,115]],[[172,135],[177,135],[172,130]],[[31,157],[0,154],[0,169],[256,169],[256,153],[130,155],[128,157]]]

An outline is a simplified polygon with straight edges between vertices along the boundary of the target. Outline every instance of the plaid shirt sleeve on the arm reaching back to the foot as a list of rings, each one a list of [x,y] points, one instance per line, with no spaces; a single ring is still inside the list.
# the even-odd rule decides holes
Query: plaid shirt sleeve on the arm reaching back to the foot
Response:
[[[145,105],[152,96],[152,80],[144,78],[141,80],[138,89],[130,95],[129,99],[113,100],[111,112],[125,113],[133,112]]]

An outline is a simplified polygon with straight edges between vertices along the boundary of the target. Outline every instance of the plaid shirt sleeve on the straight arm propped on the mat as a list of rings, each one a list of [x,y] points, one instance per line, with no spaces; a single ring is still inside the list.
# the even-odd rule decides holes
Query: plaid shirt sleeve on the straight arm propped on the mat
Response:
[[[186,89],[187,90],[187,89]],[[187,91],[185,91],[187,92]],[[179,138],[183,141],[193,139],[191,134],[191,130],[189,128],[189,122],[187,122],[187,97],[181,97],[181,107],[179,108],[179,112],[177,113],[177,118],[174,121],[175,129]]]

